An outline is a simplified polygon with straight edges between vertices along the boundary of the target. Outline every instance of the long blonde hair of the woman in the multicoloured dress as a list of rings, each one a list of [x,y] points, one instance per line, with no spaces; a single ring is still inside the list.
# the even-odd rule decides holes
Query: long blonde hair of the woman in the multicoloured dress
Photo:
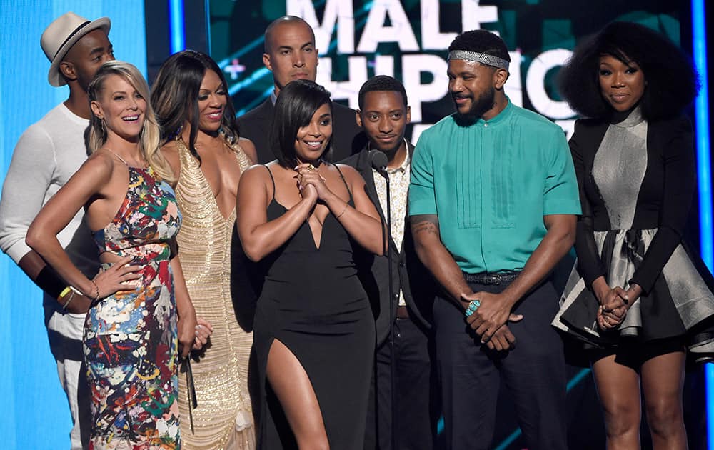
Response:
[[[87,89],[89,102],[99,101],[99,96],[104,91],[106,79],[111,75],[121,76],[146,100],[144,126],[141,127],[141,132],[139,133],[139,150],[160,179],[172,185],[176,184],[174,171],[171,170],[169,162],[166,161],[164,154],[159,150],[161,131],[159,124],[156,122],[154,109],[151,108],[149,101],[149,85],[146,84],[146,80],[139,72],[139,69],[124,61],[106,62],[99,68],[94,75],[94,79],[89,83],[89,88]],[[107,137],[104,121],[95,116],[93,111],[89,119],[89,151],[94,153],[101,149],[101,146],[106,143]]]

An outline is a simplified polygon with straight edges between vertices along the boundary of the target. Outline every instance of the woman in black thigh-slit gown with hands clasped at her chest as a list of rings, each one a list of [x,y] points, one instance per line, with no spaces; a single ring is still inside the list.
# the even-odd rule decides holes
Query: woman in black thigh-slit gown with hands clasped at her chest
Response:
[[[383,252],[364,181],[328,163],[330,94],[312,81],[281,89],[277,161],[238,188],[238,234],[266,271],[256,310],[261,449],[362,449],[374,321],[353,252]]]

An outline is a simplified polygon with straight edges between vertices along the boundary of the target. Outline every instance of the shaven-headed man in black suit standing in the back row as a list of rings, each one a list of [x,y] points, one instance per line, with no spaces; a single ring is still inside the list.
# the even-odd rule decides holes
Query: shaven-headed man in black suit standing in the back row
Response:
[[[316,79],[318,50],[311,26],[296,16],[283,16],[271,22],[265,34],[263,64],[273,72],[275,89],[266,101],[238,118],[238,131],[241,136],[253,141],[260,164],[275,159],[268,136],[280,90],[294,79]],[[355,111],[347,106],[333,104],[331,155],[328,156],[332,161],[355,154],[366,143],[354,115]]]

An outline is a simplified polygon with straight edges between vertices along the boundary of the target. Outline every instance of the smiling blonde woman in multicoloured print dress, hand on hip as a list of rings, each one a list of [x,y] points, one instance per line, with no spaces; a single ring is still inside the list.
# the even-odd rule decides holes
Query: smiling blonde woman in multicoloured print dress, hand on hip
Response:
[[[205,344],[210,325],[198,324],[172,245],[181,214],[146,81],[131,64],[110,61],[88,92],[91,156],[40,211],[26,240],[73,291],[93,299],[83,339],[90,449],[177,448],[178,353]],[[94,280],[56,239],[82,207],[104,266]]]

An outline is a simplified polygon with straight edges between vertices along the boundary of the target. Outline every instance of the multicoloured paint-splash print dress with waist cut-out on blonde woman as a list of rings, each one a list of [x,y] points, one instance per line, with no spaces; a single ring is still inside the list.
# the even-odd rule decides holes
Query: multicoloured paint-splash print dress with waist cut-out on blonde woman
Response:
[[[87,314],[89,448],[176,449],[181,444],[178,332],[169,261],[181,214],[173,189],[151,168],[127,167],[124,202],[111,223],[94,232],[94,240],[100,253],[134,256],[142,277],[133,290],[96,301]]]

